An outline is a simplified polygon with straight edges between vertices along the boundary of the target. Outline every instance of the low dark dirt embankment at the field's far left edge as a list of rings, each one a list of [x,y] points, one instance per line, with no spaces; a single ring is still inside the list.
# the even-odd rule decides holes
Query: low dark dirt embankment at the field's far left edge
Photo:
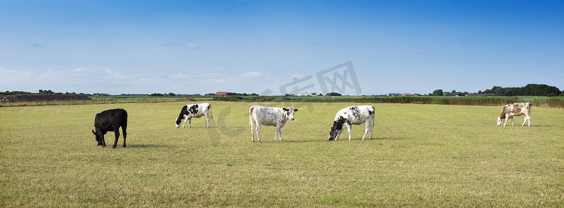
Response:
[[[0,96],[0,103],[20,103],[35,101],[90,101],[85,95],[78,94],[23,94]]]

